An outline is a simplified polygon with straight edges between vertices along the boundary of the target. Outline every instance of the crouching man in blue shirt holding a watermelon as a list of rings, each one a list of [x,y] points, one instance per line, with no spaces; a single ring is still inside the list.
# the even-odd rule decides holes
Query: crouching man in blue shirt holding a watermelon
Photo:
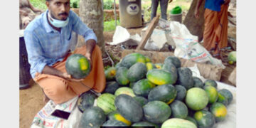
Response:
[[[24,31],[30,73],[43,89],[45,102],[48,98],[55,104],[67,102],[90,89],[102,92],[105,73],[95,33],[70,11],[70,0],[46,0],[46,6],[48,10]],[[72,31],[85,38],[85,46],[73,53],[70,52]],[[74,53],[90,60],[91,70],[86,78],[74,79],[65,70],[65,61]]]

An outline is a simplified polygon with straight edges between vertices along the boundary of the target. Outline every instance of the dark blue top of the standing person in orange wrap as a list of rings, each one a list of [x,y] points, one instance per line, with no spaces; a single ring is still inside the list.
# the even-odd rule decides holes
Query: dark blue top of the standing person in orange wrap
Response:
[[[205,8],[212,11],[220,11],[222,4],[224,4],[224,0],[206,0]]]

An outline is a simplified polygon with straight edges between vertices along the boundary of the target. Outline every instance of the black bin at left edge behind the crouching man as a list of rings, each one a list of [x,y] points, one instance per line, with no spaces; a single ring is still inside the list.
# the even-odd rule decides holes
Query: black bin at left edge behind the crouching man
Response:
[[[19,89],[23,90],[29,87],[29,80],[31,80],[28,53],[26,51],[26,45],[23,36],[20,36],[19,38],[19,63]]]

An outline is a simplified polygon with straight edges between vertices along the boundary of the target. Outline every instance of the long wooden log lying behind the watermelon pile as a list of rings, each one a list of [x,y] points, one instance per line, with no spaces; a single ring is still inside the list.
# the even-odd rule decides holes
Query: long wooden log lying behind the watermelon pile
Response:
[[[149,50],[123,50],[122,58],[124,58],[125,55],[128,55],[130,53],[141,53],[142,55],[146,55],[149,58],[151,58],[152,63],[164,63],[164,59],[166,57],[171,55],[174,56],[174,53],[172,52],[157,52]],[[179,59],[181,60],[181,67],[193,67],[196,64],[203,78],[220,81],[223,68],[206,63],[196,63],[192,60],[186,60],[183,58]]]

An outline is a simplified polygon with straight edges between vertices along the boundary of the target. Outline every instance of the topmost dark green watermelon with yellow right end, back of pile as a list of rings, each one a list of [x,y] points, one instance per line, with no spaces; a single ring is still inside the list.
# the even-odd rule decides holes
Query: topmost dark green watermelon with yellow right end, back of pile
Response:
[[[129,69],[135,63],[146,63],[145,56],[140,53],[128,54],[122,58],[121,66]]]

